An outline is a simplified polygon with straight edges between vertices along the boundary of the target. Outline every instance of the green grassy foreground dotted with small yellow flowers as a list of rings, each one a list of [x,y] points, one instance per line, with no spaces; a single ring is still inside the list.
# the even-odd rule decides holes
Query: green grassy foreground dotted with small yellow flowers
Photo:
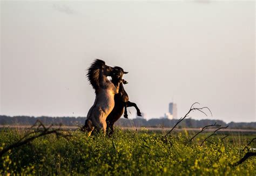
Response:
[[[2,129],[0,151],[24,133]],[[188,143],[191,135],[186,131],[168,138],[146,130],[116,130],[110,138],[70,133],[68,139],[50,134],[8,151],[0,161],[0,174],[256,175],[255,157],[233,166],[246,152],[241,149],[255,136],[220,140],[217,135],[200,146],[206,135]]]

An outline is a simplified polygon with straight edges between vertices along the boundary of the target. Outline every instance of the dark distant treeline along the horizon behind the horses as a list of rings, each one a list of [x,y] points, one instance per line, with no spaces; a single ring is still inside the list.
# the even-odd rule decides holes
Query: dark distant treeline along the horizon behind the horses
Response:
[[[33,125],[36,120],[41,120],[45,125],[64,125],[64,126],[82,126],[85,121],[85,117],[29,117],[29,116],[0,116],[0,125]],[[125,119],[120,118],[115,125],[123,127],[172,127],[177,123],[177,119]],[[234,129],[256,129],[256,122],[251,123],[228,123],[226,124],[222,120],[194,120],[191,118],[184,119],[178,125],[178,127],[188,128],[200,128],[206,125],[217,123],[222,126],[229,125],[228,128]]]

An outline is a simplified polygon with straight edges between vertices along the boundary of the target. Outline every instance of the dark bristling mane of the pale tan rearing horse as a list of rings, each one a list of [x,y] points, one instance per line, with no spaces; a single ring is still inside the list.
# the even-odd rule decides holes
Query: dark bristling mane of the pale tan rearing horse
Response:
[[[105,62],[103,60],[95,59],[95,61],[87,69],[88,73],[86,77],[92,85],[93,89],[95,89],[95,92],[99,88],[99,70],[102,68],[103,65],[105,65]]]

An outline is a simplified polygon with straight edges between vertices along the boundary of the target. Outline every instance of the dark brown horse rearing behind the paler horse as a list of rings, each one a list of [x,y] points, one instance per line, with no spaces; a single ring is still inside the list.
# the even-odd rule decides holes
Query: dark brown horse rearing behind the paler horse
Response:
[[[111,75],[112,78],[112,83],[114,85],[118,85],[120,82],[120,78],[123,77],[124,74],[128,73],[125,72],[121,67],[115,66],[114,71],[112,72],[113,74]],[[127,115],[127,107],[135,107],[137,110],[137,115],[142,116],[142,113],[140,113],[140,110],[138,106],[135,103],[132,103],[129,101],[128,94],[124,90],[123,84],[127,84],[127,82],[123,79],[123,83],[119,84],[119,92],[114,95],[114,108],[107,116],[106,122],[107,122],[107,131],[111,135],[114,131],[113,125],[114,123],[123,115],[124,117],[128,118]]]

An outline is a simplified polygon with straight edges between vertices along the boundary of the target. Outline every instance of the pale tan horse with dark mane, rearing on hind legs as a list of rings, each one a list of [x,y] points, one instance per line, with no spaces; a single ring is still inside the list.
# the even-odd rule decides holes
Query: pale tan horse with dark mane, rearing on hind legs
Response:
[[[118,93],[119,84],[115,86],[107,76],[111,76],[113,72],[111,66],[105,65],[103,60],[96,59],[88,69],[87,78],[95,89],[95,102],[90,108],[85,124],[82,127],[83,131],[91,132],[96,128],[102,129],[106,133],[106,118],[114,107],[114,94]],[[120,79],[120,82],[123,80]]]

